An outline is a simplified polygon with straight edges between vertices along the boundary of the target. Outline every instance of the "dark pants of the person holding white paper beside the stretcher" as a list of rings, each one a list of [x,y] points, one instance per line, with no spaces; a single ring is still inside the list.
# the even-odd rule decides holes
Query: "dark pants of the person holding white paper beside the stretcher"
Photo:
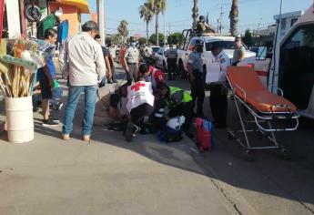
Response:
[[[222,84],[210,86],[210,108],[213,118],[219,127],[225,127],[227,122],[228,90]]]

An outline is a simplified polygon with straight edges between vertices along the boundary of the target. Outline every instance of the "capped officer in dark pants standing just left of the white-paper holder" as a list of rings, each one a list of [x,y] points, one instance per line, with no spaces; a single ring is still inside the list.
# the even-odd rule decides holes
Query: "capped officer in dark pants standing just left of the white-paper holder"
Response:
[[[204,117],[203,103],[205,97],[204,77],[206,71],[203,69],[202,52],[204,43],[201,40],[197,41],[194,51],[188,56],[187,72],[191,84],[191,96],[194,104],[197,105],[197,115],[199,118]]]

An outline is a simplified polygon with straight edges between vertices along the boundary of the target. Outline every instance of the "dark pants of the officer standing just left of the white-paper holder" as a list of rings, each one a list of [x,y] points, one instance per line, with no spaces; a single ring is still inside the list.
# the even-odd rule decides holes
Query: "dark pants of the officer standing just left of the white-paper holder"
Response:
[[[202,73],[194,71],[194,82],[191,82],[191,96],[193,97],[194,105],[197,105],[197,114],[203,116],[203,104],[205,97],[204,77]]]

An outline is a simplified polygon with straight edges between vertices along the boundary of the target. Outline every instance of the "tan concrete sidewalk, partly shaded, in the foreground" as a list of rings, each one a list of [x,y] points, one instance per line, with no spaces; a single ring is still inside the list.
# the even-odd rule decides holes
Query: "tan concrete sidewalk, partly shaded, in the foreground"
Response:
[[[59,138],[61,126],[41,127],[38,113],[34,141],[0,136],[0,214],[238,214],[187,138],[165,145],[139,135],[127,143],[121,132],[96,127],[86,144],[78,112],[70,141]]]

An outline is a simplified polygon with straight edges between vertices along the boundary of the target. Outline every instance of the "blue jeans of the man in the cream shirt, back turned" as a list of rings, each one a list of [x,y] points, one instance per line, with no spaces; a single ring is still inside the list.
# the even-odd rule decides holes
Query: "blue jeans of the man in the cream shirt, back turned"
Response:
[[[97,86],[69,86],[67,104],[64,117],[63,134],[70,134],[73,129],[73,118],[76,114],[76,106],[82,92],[85,93],[85,111],[82,122],[82,133],[84,136],[92,132]]]

